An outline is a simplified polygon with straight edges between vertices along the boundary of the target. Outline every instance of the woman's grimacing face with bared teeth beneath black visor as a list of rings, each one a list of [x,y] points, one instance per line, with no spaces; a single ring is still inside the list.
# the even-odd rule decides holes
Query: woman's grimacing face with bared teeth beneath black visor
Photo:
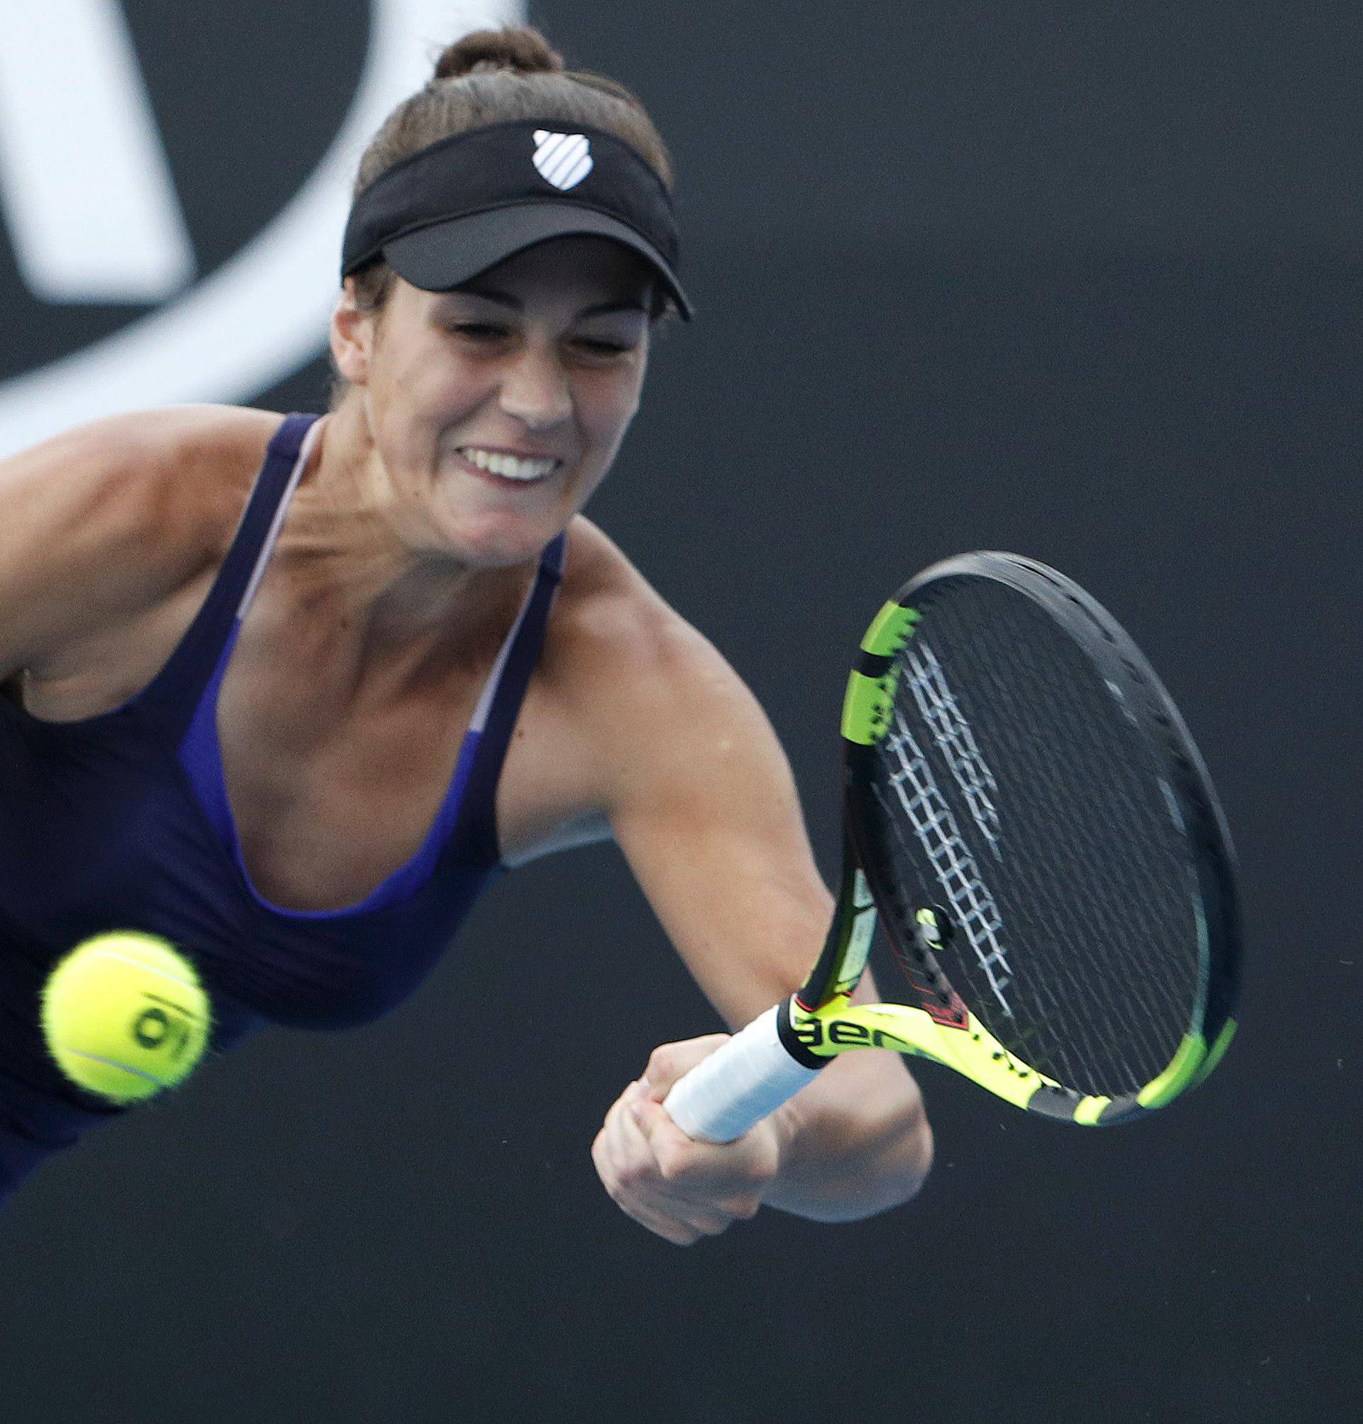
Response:
[[[338,363],[409,548],[500,567],[567,527],[638,409],[651,295],[628,248],[558,238],[453,292],[397,281],[350,318]]]

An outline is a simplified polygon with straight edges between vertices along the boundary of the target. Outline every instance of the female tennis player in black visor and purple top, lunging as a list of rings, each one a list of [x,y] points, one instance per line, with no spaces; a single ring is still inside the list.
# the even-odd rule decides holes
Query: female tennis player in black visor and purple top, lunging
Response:
[[[731,1025],[800,983],[830,897],[775,735],[581,514],[689,316],[669,187],[627,90],[469,36],[363,158],[328,414],[137,413],[0,467],[0,1199],[125,1111],[38,1028],[103,930],[194,957],[221,1052],[386,1014],[496,876],[614,836]],[[685,1138],[661,1099],[722,1040],[655,1049],[607,1112],[630,1216],[689,1243],[919,1189],[889,1054]]]

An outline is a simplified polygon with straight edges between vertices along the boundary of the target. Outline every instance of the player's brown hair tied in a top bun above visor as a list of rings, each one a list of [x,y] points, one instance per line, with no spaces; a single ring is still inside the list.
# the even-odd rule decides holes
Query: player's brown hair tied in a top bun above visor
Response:
[[[668,151],[630,90],[601,74],[564,68],[563,58],[538,30],[508,26],[477,30],[446,47],[430,81],[389,114],[365,150],[355,192],[442,138],[521,118],[587,124],[614,134],[672,187]],[[356,273],[356,305],[377,310],[392,288],[393,269],[380,259]]]

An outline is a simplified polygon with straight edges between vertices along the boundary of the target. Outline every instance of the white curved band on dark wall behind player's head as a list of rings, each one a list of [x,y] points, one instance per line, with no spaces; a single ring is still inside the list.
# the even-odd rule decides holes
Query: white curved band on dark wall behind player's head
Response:
[[[302,189],[177,302],[0,384],[0,457],[121,410],[251,400],[310,362],[326,343],[350,182],[373,130],[424,83],[443,44],[521,17],[520,0],[373,0],[355,101]]]

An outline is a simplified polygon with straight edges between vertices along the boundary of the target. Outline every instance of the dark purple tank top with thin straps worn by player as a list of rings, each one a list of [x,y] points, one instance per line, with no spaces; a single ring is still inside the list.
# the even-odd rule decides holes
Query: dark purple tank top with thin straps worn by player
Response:
[[[208,598],[141,692],[63,723],[0,696],[0,1200],[7,1173],[27,1175],[125,1111],[68,1084],[41,1041],[41,985],[80,940],[140,928],[179,947],[212,997],[211,1042],[222,1051],[268,1021],[348,1028],[380,1018],[426,978],[504,870],[497,779],[544,644],[564,535],[541,557],[417,853],[335,911],[285,910],[251,884],[216,699],[315,422],[289,416],[271,440]]]

